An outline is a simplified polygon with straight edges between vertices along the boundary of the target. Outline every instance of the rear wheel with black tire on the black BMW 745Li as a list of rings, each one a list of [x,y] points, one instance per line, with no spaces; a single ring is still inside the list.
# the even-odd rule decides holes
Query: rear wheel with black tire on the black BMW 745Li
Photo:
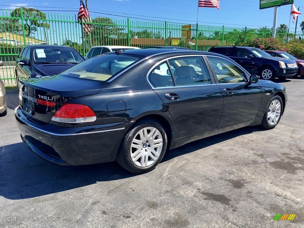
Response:
[[[139,121],[124,136],[116,161],[132,173],[153,170],[167,150],[167,134],[154,119]]]

